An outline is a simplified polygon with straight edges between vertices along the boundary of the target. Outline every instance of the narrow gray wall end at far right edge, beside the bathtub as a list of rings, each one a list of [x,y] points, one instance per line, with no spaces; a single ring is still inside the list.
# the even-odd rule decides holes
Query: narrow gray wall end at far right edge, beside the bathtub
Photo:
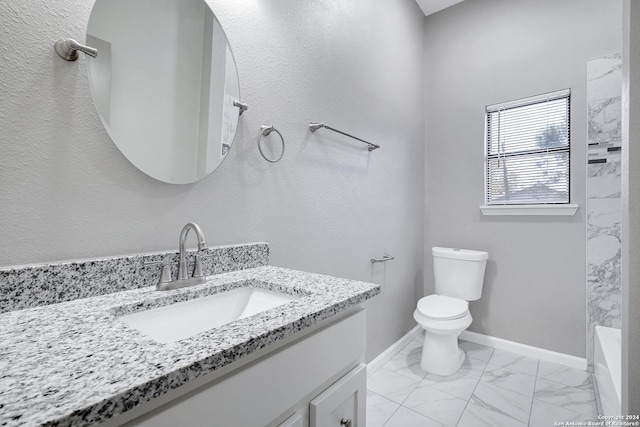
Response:
[[[640,414],[640,3],[624,1],[622,413]],[[635,184],[635,185],[634,185]]]

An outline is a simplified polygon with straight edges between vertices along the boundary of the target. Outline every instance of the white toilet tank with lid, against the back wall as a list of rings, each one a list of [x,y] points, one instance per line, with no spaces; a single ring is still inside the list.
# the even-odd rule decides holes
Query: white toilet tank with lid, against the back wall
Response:
[[[432,248],[431,253],[436,294],[466,301],[480,299],[487,252]]]

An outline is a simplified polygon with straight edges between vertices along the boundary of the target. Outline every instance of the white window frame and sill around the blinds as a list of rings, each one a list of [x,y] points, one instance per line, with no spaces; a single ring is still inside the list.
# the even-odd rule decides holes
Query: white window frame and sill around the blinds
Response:
[[[505,201],[504,203],[489,203],[489,168],[491,159],[501,157],[499,154],[489,155],[489,115],[495,111],[503,110],[503,109],[511,109],[517,107],[526,107],[528,105],[538,104],[544,101],[568,98],[568,117],[567,117],[567,126],[569,133],[569,141],[567,148],[562,149],[534,149],[527,150],[521,153],[511,153],[507,154],[507,157],[518,157],[518,156],[530,156],[531,154],[543,154],[549,153],[553,151],[561,151],[566,152],[568,155],[568,201],[567,202],[553,202],[553,201],[542,201],[540,203],[514,203]],[[572,187],[572,177],[571,177],[571,89],[564,89],[549,93],[544,93],[536,96],[531,96],[527,98],[521,98],[509,102],[503,102],[499,104],[487,105],[484,109],[484,205],[480,206],[483,215],[574,215],[578,209],[578,205],[571,203],[571,187]]]

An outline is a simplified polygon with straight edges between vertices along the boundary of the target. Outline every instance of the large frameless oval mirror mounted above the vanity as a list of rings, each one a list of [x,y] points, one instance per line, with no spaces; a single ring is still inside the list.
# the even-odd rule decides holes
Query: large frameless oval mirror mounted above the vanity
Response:
[[[240,85],[204,0],[96,0],[89,85],[109,136],[131,163],[172,184],[204,178],[229,153]]]

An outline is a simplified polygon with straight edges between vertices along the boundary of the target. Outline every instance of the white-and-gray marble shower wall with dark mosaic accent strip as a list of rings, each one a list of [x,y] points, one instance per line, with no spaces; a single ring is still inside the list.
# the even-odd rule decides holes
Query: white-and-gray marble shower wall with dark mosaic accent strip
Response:
[[[587,62],[587,362],[597,325],[621,327],[622,54]]]

